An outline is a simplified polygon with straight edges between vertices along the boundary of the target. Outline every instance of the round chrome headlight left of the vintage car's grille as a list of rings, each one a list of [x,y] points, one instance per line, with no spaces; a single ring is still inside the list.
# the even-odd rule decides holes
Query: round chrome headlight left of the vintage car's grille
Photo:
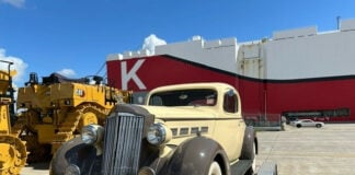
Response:
[[[81,129],[81,140],[87,144],[96,144],[103,138],[103,127],[100,125],[88,125]]]

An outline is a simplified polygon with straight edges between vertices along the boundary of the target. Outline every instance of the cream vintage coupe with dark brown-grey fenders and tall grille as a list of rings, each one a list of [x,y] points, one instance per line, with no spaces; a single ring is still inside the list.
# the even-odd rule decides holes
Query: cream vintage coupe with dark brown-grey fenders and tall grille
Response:
[[[225,83],[158,88],[146,105],[116,105],[104,127],[84,127],[57,151],[50,174],[253,174],[257,139],[241,114]]]

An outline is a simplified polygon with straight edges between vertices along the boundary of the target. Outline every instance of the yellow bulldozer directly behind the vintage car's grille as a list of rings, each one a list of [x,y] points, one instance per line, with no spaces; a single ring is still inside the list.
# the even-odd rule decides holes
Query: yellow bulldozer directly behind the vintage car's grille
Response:
[[[49,161],[66,141],[78,136],[83,126],[104,125],[110,109],[128,103],[131,92],[103,83],[101,77],[68,79],[58,73],[43,77],[30,73],[30,81],[19,88],[16,121],[12,133],[26,141],[27,162]]]

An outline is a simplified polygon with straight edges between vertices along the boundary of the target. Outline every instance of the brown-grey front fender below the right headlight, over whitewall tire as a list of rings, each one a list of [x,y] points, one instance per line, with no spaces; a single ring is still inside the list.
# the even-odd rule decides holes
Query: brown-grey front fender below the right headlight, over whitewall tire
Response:
[[[196,137],[180,144],[159,174],[207,174],[213,161],[219,163],[222,174],[230,174],[227,154],[219,143],[206,137]]]

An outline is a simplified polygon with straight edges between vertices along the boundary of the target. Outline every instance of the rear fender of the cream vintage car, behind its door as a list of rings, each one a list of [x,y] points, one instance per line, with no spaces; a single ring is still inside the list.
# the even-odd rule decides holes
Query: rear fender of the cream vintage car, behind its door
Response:
[[[257,154],[257,138],[256,132],[253,127],[247,127],[244,131],[243,145],[240,155],[240,160],[253,160],[254,159],[254,148],[255,144],[255,153]]]

